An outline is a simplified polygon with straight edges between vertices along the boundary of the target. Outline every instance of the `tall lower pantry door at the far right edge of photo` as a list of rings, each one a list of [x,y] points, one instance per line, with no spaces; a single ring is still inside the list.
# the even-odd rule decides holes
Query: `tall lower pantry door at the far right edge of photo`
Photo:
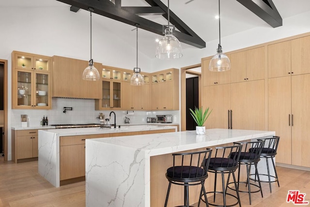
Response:
[[[292,76],[292,164],[303,167],[310,167],[309,88],[310,74]]]

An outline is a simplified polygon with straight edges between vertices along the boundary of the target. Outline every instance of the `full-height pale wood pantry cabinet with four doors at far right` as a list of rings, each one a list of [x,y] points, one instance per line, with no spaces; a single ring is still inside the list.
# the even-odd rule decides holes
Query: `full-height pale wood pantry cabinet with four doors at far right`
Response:
[[[280,136],[277,162],[310,167],[310,37],[268,46],[268,130]]]

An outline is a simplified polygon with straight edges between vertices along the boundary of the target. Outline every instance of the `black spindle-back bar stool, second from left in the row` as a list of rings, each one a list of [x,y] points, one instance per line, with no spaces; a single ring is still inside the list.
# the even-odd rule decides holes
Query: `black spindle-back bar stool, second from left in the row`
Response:
[[[215,157],[210,159],[209,170],[208,170],[208,172],[215,174],[214,191],[206,192],[206,194],[213,193],[213,203],[210,203],[210,202],[208,203],[207,200],[203,200],[202,193],[201,193],[198,205],[200,204],[202,200],[203,202],[206,202],[211,206],[232,207],[232,206],[239,204],[239,206],[241,207],[240,197],[239,197],[239,192],[238,192],[238,187],[237,187],[234,172],[239,166],[238,163],[239,163],[239,157],[240,157],[242,145],[243,145],[242,143],[233,143],[232,146],[216,147]],[[230,156],[228,158],[228,156],[232,155],[232,153],[234,153],[233,156]],[[217,191],[217,174],[221,174],[222,176],[222,190],[223,191]],[[229,180],[227,180],[226,186],[225,186],[225,179],[224,179],[225,174],[229,174],[229,175],[233,174],[233,183],[235,185],[235,188],[237,189],[236,195],[233,195],[227,192],[227,186],[228,186]],[[215,199],[216,199],[216,193],[223,194],[223,205],[214,204]],[[236,198],[237,202],[231,205],[227,205],[226,204],[227,195]]]

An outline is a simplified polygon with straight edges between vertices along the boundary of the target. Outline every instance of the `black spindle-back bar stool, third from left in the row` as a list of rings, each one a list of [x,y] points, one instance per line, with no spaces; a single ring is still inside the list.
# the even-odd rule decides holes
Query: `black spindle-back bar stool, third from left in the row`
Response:
[[[239,159],[239,169],[238,169],[238,188],[233,189],[232,187],[228,186],[229,189],[232,189],[234,191],[238,190],[239,192],[247,192],[248,197],[249,197],[249,202],[251,205],[251,193],[254,192],[261,192],[262,197],[263,197],[263,191],[262,191],[262,185],[261,181],[259,178],[258,170],[257,170],[257,163],[261,160],[260,156],[262,153],[263,145],[264,145],[264,140],[257,140],[257,141],[251,141],[251,142],[240,142],[243,144],[243,150],[240,153],[240,159]],[[235,152],[231,153],[230,157],[235,156]],[[241,165],[246,165],[247,167],[247,181],[240,181],[240,168]],[[254,183],[250,183],[250,171],[251,171],[251,165],[254,165],[255,168],[255,175],[257,175],[258,178],[258,185]],[[253,174],[254,175],[254,174]],[[229,175],[230,176],[230,175]],[[228,177],[229,177],[228,176]],[[229,178],[228,178],[229,180]],[[246,186],[248,186],[248,191],[241,191],[239,189],[240,183],[245,183]],[[231,183],[229,183],[231,184]],[[256,191],[251,191],[251,185],[256,186],[258,190]]]

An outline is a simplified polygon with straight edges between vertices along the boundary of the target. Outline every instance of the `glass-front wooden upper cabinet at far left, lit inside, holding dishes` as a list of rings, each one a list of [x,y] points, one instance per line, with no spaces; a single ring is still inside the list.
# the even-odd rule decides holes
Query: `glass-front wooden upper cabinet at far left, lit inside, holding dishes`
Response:
[[[12,52],[12,109],[51,109],[50,57]]]

